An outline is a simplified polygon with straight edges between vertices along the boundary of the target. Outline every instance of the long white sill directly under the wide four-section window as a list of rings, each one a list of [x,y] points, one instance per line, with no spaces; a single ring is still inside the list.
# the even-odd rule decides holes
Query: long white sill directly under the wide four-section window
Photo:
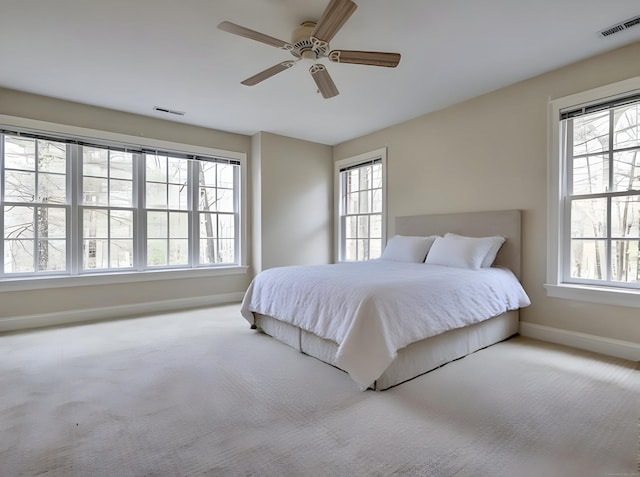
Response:
[[[184,270],[154,270],[145,272],[120,272],[64,277],[28,277],[0,280],[0,293],[12,291],[40,290],[45,288],[67,288],[80,286],[109,285],[117,283],[178,280],[184,278],[210,278],[225,275],[244,275],[247,266],[197,268]]]

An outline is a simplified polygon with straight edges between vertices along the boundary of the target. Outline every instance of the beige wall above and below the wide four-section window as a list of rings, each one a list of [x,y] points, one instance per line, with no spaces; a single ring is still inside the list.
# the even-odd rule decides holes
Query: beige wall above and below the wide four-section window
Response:
[[[0,89],[0,114],[58,124],[154,138],[228,151],[251,152],[251,138],[240,134],[187,126],[169,121]],[[2,319],[65,311],[124,307],[164,300],[204,300],[244,292],[249,273],[218,277],[158,280],[127,284],[81,286],[0,293]]]

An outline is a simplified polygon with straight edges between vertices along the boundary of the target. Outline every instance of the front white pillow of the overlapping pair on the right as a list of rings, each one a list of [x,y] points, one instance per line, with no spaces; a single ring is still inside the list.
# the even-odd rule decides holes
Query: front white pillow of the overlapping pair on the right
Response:
[[[425,263],[478,270],[491,245],[488,240],[464,240],[445,235],[433,242]]]

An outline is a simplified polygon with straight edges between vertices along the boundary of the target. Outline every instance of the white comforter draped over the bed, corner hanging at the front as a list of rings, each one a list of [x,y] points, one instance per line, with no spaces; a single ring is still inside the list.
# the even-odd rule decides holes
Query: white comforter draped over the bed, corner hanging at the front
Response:
[[[336,364],[362,389],[397,350],[530,304],[513,273],[382,260],[265,270],[242,315],[269,315],[338,344]]]

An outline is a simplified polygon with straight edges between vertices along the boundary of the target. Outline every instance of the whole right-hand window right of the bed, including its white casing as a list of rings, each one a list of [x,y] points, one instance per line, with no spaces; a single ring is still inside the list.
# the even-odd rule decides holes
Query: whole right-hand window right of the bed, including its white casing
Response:
[[[553,101],[551,114],[547,289],[640,297],[640,82]]]

